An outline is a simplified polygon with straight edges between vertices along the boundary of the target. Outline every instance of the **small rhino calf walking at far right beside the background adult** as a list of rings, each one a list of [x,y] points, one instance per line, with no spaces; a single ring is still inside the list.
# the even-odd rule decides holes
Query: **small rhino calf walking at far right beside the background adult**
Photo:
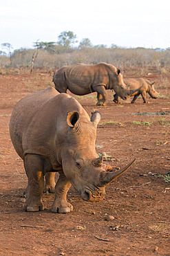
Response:
[[[123,79],[125,84],[129,84],[129,89],[134,90],[139,88],[142,84],[142,88],[139,89],[139,91],[136,91],[136,93],[132,93],[130,96],[134,96],[134,99],[131,101],[131,103],[134,103],[138,96],[141,94],[142,99],[144,103],[148,103],[147,101],[147,93],[151,96],[151,98],[156,99],[158,98],[158,94],[156,90],[154,89],[153,83],[149,82],[149,80],[143,79],[143,78],[124,78]],[[114,95],[114,102],[120,103],[120,98],[118,97],[118,94],[116,93]]]

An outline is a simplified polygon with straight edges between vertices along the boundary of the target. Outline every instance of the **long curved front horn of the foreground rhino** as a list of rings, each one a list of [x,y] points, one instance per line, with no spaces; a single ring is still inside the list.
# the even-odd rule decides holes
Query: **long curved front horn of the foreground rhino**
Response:
[[[134,158],[134,160],[132,160],[130,163],[128,163],[128,165],[123,167],[123,169],[120,169],[118,171],[115,171],[115,172],[105,172],[105,171],[103,171],[103,172],[101,172],[100,173],[100,183],[101,183],[101,185],[107,185],[109,182],[116,179],[120,174],[123,174],[123,172],[125,172],[131,165],[133,165],[134,161],[136,161],[136,158]]]

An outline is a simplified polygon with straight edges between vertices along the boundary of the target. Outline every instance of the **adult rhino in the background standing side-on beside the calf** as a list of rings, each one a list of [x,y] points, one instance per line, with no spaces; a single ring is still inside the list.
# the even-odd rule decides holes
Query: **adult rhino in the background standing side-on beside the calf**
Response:
[[[75,64],[63,66],[54,73],[53,80],[59,93],[66,93],[69,89],[76,95],[97,92],[97,105],[105,105],[108,89],[114,89],[123,100],[135,91],[127,89],[120,70],[111,64],[99,63],[95,65]]]

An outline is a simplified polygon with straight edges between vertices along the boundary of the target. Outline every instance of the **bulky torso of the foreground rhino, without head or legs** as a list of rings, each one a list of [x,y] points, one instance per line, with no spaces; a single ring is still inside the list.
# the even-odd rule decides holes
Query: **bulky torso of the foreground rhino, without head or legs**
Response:
[[[56,163],[58,153],[54,144],[59,143],[67,133],[68,111],[78,111],[81,118],[89,119],[81,104],[53,88],[23,98],[14,108],[10,120],[10,136],[19,156],[24,158],[26,154],[39,154]]]

